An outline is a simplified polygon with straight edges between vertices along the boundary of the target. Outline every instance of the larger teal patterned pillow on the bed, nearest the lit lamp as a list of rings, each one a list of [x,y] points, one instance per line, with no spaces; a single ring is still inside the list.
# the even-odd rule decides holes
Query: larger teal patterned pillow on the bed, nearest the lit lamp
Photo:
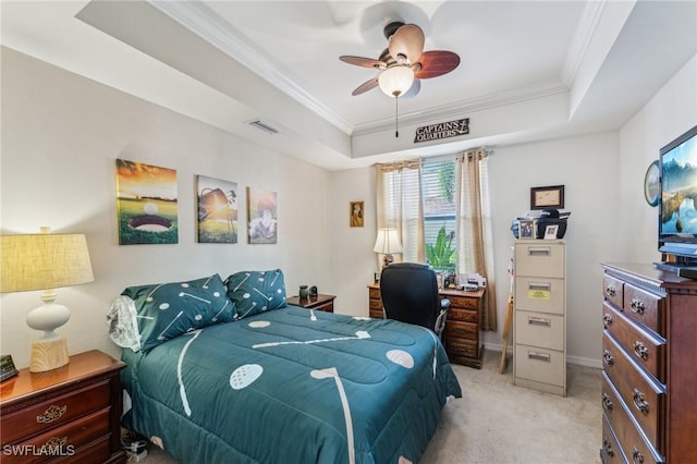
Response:
[[[232,320],[234,309],[220,276],[187,282],[129,286],[137,313],[140,350],[195,329]]]

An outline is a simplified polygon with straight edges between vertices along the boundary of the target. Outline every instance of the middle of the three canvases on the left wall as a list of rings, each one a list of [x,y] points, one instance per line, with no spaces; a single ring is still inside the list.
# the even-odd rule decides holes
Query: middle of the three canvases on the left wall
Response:
[[[198,243],[237,243],[237,183],[196,176]]]

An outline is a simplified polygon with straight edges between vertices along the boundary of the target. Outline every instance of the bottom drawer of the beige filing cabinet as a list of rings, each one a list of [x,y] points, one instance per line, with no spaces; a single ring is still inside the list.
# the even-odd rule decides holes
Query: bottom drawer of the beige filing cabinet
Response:
[[[515,376],[554,386],[563,384],[564,353],[515,344]]]

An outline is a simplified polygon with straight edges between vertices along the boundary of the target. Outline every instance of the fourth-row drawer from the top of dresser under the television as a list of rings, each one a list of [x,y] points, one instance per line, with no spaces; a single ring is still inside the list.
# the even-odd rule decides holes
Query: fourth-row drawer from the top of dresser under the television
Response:
[[[620,399],[620,393],[612,387],[612,381],[603,376],[603,396],[606,391],[611,392],[613,401],[612,412],[603,404],[603,417],[607,419],[610,430],[614,432],[616,442],[629,463],[657,464],[663,463],[662,455],[643,438],[641,432],[635,427],[626,404]],[[604,401],[603,401],[604,403]],[[604,437],[604,429],[603,429]]]

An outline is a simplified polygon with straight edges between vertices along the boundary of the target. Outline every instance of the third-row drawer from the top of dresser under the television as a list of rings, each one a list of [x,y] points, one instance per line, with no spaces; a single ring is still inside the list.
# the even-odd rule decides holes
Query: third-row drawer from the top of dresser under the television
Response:
[[[602,363],[608,377],[647,439],[657,449],[662,449],[659,431],[665,414],[663,384],[637,366],[607,330],[602,335]]]

